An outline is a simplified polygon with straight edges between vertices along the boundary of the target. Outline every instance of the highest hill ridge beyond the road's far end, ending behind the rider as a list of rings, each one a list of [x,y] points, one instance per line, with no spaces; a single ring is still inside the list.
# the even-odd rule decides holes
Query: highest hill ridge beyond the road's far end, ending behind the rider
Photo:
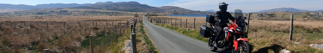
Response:
[[[138,2],[115,2],[115,3],[99,3],[89,6],[94,8],[102,8],[112,11],[125,12],[156,12],[156,7],[147,4],[140,4]],[[212,12],[193,11],[176,6],[162,6],[158,7],[158,13],[173,13],[173,14],[212,14]]]

